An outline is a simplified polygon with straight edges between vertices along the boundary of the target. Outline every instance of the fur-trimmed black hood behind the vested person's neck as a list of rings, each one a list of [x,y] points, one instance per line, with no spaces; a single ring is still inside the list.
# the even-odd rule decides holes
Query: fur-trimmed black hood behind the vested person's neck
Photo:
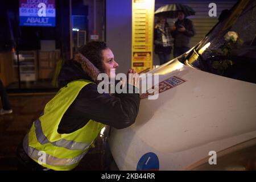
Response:
[[[59,87],[74,80],[91,80],[98,82],[97,77],[100,71],[81,53],[77,53],[71,60],[65,62],[58,77]]]

